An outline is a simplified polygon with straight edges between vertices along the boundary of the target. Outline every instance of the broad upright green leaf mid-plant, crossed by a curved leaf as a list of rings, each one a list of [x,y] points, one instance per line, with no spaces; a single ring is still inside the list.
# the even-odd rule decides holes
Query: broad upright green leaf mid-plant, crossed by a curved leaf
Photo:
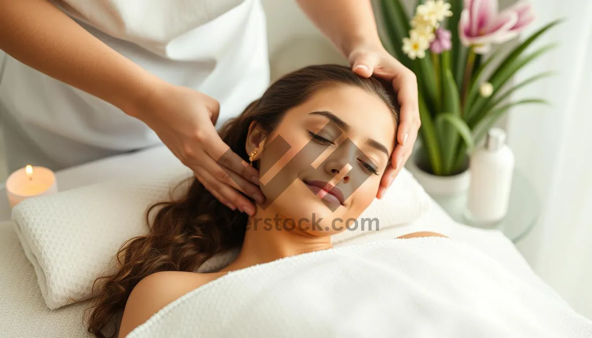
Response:
[[[456,118],[461,118],[461,103],[459,91],[456,87],[456,82],[452,71],[446,69],[443,71],[442,79],[442,107],[443,111],[448,112]],[[437,118],[440,118],[440,115]],[[436,120],[437,121],[437,120]],[[463,124],[465,122],[463,121]],[[442,131],[442,165],[446,174],[452,171],[452,164],[454,161],[456,145],[458,144],[459,131],[455,125],[439,124]]]

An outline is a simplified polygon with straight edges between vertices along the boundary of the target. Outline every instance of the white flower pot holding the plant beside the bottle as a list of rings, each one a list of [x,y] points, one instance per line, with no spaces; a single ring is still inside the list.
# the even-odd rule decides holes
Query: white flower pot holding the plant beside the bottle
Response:
[[[407,161],[406,167],[430,196],[451,196],[464,193],[471,183],[468,170],[454,176],[436,176],[417,167],[413,157]]]

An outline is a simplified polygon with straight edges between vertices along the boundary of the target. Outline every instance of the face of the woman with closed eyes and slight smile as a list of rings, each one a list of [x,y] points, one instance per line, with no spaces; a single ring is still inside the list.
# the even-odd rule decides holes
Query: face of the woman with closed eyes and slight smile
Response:
[[[259,207],[287,229],[314,235],[352,229],[377,195],[395,130],[377,95],[351,86],[319,90],[266,138],[257,160],[268,201]]]

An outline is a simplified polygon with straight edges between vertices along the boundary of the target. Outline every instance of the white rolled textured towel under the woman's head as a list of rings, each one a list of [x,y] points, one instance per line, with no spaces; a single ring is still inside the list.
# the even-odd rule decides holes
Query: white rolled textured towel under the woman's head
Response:
[[[47,307],[56,309],[91,297],[96,277],[115,267],[113,258],[120,245],[148,232],[147,207],[168,200],[172,188],[191,177],[179,163],[171,163],[165,170],[162,167],[147,176],[28,199],[14,208],[18,237],[33,264]],[[418,219],[429,206],[425,191],[403,170],[383,199],[375,200],[361,217],[377,217],[379,229],[384,229]],[[368,229],[360,227],[346,230],[334,235],[333,242],[365,232]],[[199,271],[224,266],[234,254],[215,257]]]

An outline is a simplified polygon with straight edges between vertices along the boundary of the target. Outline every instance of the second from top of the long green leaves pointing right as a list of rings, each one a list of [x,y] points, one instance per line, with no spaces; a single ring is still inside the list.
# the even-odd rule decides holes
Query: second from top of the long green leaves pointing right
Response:
[[[526,66],[526,64],[530,63],[530,61],[535,60],[542,54],[545,54],[547,51],[551,50],[555,47],[555,44],[546,45],[542,48],[539,48],[532,54],[528,56],[519,58],[514,60],[512,63],[508,64],[504,69],[498,69],[496,73],[494,73],[489,82],[493,85],[493,93],[489,98],[483,98],[480,96],[475,100],[474,105],[469,110],[469,118],[468,118],[468,125],[474,127],[481,121],[481,119],[485,116],[487,111],[484,110],[485,105],[490,102],[490,100],[496,95],[496,93],[506,84],[508,80],[522,67]]]

